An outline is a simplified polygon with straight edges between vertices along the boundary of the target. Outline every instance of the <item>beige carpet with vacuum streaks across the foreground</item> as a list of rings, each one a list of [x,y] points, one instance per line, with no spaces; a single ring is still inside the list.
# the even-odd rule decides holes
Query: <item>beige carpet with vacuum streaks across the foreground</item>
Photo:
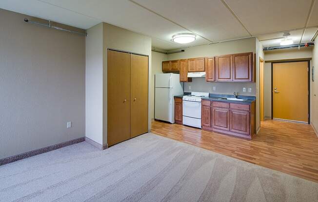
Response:
[[[318,184],[159,135],[0,167],[0,202],[318,202]]]

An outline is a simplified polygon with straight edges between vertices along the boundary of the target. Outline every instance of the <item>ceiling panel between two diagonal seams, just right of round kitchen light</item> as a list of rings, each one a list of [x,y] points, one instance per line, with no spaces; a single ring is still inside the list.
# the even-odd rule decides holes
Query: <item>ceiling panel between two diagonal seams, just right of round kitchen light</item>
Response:
[[[220,0],[135,1],[210,41],[249,36]]]

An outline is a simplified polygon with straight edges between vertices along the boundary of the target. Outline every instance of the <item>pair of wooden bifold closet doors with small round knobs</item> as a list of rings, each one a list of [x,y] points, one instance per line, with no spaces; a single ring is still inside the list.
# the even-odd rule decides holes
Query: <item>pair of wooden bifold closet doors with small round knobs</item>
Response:
[[[148,132],[148,57],[107,51],[107,143]]]

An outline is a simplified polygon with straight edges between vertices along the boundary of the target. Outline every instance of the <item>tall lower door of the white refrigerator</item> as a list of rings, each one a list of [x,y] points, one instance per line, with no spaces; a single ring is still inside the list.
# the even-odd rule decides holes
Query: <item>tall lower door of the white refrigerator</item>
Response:
[[[155,118],[174,123],[172,88],[155,88]]]

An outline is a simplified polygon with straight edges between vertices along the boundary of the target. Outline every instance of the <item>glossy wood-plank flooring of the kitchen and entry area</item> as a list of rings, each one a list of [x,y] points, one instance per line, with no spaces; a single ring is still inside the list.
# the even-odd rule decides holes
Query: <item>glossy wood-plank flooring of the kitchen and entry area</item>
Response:
[[[252,140],[157,120],[152,122],[151,132],[318,182],[318,137],[308,124],[261,121]]]

